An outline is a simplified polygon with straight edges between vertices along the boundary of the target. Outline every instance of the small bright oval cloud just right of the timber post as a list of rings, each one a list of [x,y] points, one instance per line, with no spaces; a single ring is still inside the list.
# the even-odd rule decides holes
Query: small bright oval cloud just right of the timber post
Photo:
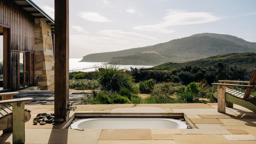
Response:
[[[109,20],[107,17],[100,15],[99,13],[82,11],[78,13],[78,15],[81,18],[84,18],[85,20],[88,20],[91,22],[111,22],[111,20]]]

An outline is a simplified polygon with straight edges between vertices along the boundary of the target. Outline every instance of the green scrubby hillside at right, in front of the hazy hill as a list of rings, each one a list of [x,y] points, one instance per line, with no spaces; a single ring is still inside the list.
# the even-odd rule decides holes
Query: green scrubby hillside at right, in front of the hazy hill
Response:
[[[196,61],[187,61],[185,63],[164,63],[150,68],[150,70],[172,71],[182,66],[212,66],[216,63],[227,63],[228,65],[241,66],[253,70],[256,68],[256,53],[232,53],[215,55]]]

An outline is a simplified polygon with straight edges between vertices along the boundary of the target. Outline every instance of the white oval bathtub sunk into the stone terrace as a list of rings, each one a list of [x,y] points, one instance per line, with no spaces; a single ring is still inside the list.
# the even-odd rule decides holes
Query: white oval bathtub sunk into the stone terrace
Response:
[[[87,118],[74,122],[72,129],[186,129],[171,118]]]

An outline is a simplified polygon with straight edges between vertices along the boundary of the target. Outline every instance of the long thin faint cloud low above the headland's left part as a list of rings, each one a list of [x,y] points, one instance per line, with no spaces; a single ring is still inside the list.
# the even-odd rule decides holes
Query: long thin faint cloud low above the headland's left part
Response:
[[[115,38],[121,38],[121,39],[127,39],[127,40],[135,40],[135,41],[155,41],[157,40],[155,37],[151,37],[148,35],[142,35],[139,33],[133,33],[133,32],[125,32],[120,30],[103,30],[99,31],[98,33],[102,35],[107,35],[110,37]]]

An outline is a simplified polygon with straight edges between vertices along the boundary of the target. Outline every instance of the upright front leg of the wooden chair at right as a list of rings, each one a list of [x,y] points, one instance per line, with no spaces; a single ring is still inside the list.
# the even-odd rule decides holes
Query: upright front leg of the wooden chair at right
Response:
[[[218,112],[226,113],[226,86],[218,85]]]

